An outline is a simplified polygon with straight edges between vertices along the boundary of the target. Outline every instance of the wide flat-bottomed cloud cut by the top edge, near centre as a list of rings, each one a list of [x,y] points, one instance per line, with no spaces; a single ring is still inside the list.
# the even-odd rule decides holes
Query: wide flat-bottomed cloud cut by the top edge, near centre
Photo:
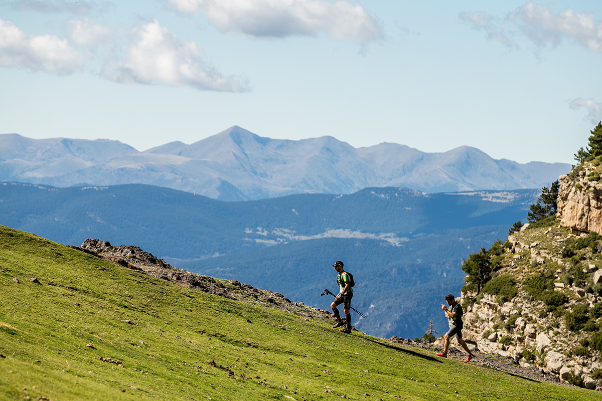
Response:
[[[181,13],[203,13],[220,32],[285,37],[328,32],[338,40],[382,38],[382,23],[359,3],[338,0],[167,0]]]

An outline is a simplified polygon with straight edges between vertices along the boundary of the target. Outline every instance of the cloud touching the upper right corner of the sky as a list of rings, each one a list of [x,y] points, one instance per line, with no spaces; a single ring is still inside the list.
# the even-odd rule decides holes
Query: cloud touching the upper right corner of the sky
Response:
[[[595,20],[594,13],[576,13],[567,8],[554,14],[553,10],[552,4],[529,2],[516,13],[508,14],[508,19],[522,22],[521,29],[538,46],[557,46],[566,37],[595,52],[602,52],[602,22]]]

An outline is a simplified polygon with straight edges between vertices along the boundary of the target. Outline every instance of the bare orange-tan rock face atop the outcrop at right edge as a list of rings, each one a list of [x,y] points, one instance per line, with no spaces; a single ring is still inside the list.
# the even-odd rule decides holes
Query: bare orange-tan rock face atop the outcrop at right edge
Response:
[[[593,171],[594,166],[586,163],[581,170],[559,178],[557,217],[574,234],[602,234],[602,182],[589,181]]]

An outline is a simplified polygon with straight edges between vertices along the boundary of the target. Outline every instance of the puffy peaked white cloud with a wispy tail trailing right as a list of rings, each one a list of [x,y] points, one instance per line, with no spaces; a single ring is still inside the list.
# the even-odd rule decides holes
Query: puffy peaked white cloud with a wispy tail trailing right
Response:
[[[199,90],[241,92],[246,87],[236,76],[225,77],[206,66],[194,41],[179,39],[157,20],[132,31],[134,38],[123,57],[110,60],[104,75],[124,84],[190,86]]]

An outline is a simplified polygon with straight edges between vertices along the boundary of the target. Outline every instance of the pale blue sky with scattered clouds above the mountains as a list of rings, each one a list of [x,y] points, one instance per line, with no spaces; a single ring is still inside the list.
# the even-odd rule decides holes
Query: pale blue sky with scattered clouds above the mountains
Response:
[[[2,0],[0,133],[143,151],[233,125],[574,164],[602,2]]]

